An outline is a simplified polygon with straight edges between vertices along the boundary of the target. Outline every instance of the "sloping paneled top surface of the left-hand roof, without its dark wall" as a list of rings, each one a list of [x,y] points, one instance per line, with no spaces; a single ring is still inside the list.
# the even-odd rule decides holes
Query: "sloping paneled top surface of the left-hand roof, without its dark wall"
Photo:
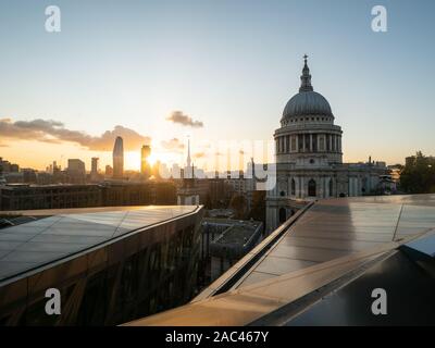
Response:
[[[0,228],[0,283],[197,209],[197,206],[151,206],[8,212],[14,216],[10,219],[12,223],[16,219],[20,223]]]

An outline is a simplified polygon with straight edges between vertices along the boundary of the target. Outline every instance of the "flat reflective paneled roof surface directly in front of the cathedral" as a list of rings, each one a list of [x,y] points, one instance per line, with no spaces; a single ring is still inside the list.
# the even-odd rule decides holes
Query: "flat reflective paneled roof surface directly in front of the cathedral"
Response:
[[[434,228],[435,195],[320,200],[286,228],[233,288]]]

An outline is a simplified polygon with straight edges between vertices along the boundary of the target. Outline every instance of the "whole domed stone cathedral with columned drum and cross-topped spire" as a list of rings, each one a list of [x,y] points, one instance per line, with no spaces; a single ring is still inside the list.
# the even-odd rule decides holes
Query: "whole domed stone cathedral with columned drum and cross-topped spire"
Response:
[[[273,231],[307,201],[355,197],[377,188],[385,163],[343,163],[341,127],[328,101],[311,85],[304,57],[301,86],[275,130],[276,185],[266,195],[266,228]]]

